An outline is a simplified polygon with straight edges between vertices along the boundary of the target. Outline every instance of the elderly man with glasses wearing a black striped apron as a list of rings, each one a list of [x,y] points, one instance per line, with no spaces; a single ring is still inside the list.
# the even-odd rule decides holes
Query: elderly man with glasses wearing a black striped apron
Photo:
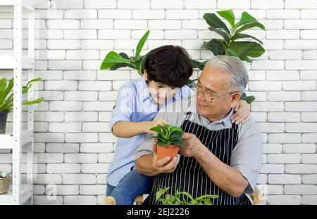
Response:
[[[191,98],[163,108],[157,118],[184,131],[185,147],[178,157],[157,159],[149,135],[136,152],[139,173],[154,176],[149,204],[157,204],[161,187],[193,197],[218,194],[213,204],[250,204],[244,193],[254,190],[262,160],[261,131],[254,120],[232,124],[233,106],[247,86],[241,60],[216,56],[207,62]],[[153,147],[152,147],[153,145]]]

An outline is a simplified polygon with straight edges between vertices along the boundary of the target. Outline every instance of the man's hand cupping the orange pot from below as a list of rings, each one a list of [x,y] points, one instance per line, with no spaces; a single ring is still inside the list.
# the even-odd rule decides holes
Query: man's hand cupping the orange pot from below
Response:
[[[156,147],[156,145],[153,145],[153,167],[159,173],[172,173],[180,162],[180,154],[177,157],[173,157],[172,160],[170,160],[170,157],[158,160]]]

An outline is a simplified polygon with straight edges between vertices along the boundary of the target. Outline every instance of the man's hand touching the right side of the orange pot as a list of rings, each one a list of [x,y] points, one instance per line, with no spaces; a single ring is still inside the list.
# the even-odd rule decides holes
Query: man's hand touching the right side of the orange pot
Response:
[[[201,144],[200,140],[196,137],[196,135],[192,133],[184,133],[182,135],[182,139],[185,142],[185,147],[180,147],[180,154],[185,157],[195,157],[201,152]]]

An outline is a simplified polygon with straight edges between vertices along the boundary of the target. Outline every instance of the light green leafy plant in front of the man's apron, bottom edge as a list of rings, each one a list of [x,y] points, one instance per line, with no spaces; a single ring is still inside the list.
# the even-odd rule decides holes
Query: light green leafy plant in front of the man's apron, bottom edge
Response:
[[[168,194],[170,187],[160,188],[156,192],[156,201],[163,205],[212,205],[211,199],[217,199],[218,195],[204,194],[201,197],[193,198],[188,192],[178,192]]]

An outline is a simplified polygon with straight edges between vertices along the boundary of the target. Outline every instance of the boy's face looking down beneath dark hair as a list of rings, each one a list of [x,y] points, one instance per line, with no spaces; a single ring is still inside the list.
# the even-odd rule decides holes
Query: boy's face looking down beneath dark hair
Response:
[[[146,73],[144,73],[144,79],[147,80]],[[170,98],[173,98],[173,96],[178,91],[177,88],[173,88],[173,87],[167,86],[166,84],[161,84],[156,81],[149,81],[148,87],[149,87],[149,93],[151,93],[153,100],[158,104],[162,104],[166,102],[167,100],[169,100]]]

